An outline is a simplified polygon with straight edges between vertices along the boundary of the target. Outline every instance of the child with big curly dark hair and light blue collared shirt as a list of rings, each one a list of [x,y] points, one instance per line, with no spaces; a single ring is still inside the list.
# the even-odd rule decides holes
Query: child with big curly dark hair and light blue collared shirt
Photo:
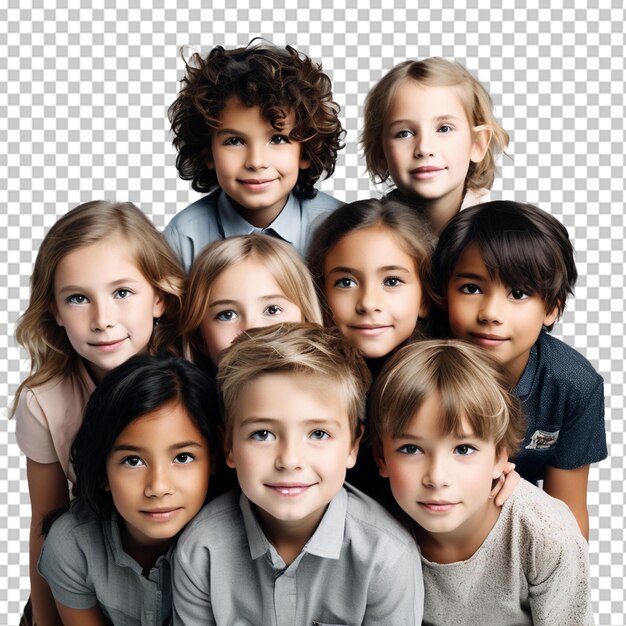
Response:
[[[187,270],[212,241],[252,232],[304,253],[312,223],[341,204],[314,188],[343,147],[330,79],[291,46],[256,40],[186,66],[169,110],[176,167],[209,194],[168,224],[170,245]]]

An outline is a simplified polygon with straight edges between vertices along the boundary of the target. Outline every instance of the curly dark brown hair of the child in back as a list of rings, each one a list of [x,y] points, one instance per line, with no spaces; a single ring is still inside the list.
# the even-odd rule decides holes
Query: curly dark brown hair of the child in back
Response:
[[[302,143],[302,156],[311,165],[300,170],[293,192],[313,198],[320,176],[334,172],[345,134],[322,66],[291,46],[283,50],[257,39],[234,50],[216,46],[204,59],[195,53],[185,64],[181,90],[169,108],[180,177],[191,180],[200,192],[217,185],[215,170],[206,165],[212,160],[211,135],[220,127],[226,102],[237,98],[245,106],[258,106],[278,131],[294,112],[296,124],[289,138]]]

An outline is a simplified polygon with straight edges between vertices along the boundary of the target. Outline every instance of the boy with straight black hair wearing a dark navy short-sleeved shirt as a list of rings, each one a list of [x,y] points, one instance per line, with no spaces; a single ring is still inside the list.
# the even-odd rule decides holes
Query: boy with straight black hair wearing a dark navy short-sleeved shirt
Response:
[[[537,207],[496,201],[456,215],[433,256],[431,292],[452,336],[491,353],[509,375],[528,428],[512,460],[563,500],[588,538],[590,463],[607,456],[602,377],[548,334],[577,272],[565,227]]]

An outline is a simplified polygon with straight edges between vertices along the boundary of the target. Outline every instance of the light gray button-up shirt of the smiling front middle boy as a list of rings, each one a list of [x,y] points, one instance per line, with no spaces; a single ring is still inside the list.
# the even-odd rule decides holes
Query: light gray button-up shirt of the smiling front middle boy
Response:
[[[289,566],[238,492],[200,511],[181,535],[172,566],[175,625],[415,626],[422,619],[413,539],[347,484]]]

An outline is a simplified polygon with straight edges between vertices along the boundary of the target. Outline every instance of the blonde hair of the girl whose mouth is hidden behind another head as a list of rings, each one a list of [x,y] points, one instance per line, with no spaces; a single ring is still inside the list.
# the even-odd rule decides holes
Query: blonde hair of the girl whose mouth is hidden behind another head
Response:
[[[322,323],[315,287],[304,261],[290,244],[268,235],[239,235],[207,246],[193,262],[183,308],[183,347],[188,358],[205,354],[200,324],[209,308],[211,287],[228,267],[254,258],[270,272],[305,322]]]

